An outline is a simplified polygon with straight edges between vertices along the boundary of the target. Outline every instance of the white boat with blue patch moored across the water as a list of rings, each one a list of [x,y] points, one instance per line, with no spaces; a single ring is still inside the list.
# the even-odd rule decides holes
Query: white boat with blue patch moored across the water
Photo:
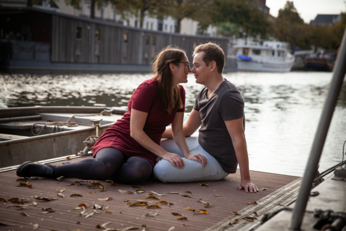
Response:
[[[234,48],[239,71],[289,72],[294,63],[286,42],[237,39]]]

